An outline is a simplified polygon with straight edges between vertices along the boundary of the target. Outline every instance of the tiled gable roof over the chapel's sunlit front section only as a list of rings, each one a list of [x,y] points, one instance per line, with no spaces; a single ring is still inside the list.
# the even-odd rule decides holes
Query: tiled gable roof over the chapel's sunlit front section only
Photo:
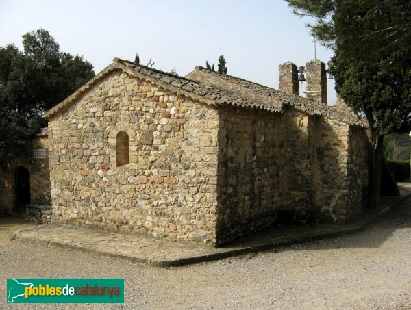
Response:
[[[281,112],[281,110],[279,110],[276,105],[262,103],[253,99],[247,99],[242,96],[237,96],[236,94],[229,94],[228,92],[225,92],[224,90],[215,88],[213,86],[203,86],[200,83],[191,81],[184,77],[171,75],[169,73],[164,73],[160,70],[155,70],[147,66],[137,65],[134,62],[115,58],[113,64],[101,71],[101,73],[96,75],[93,79],[88,81],[88,83],[84,84],[84,86],[71,94],[71,96],[62,101],[62,103],[50,109],[45,114],[45,118],[49,118],[54,114],[60,112],[62,109],[69,107],[69,105],[79,99],[79,97],[82,96],[84,92],[86,92],[93,85],[95,85],[95,83],[105,77],[105,75],[108,75],[108,73],[114,70],[122,70],[129,75],[138,77],[145,81],[150,81],[156,86],[169,90],[177,95],[184,95],[195,101],[206,103],[208,105],[234,105],[238,107],[264,109],[270,112]]]

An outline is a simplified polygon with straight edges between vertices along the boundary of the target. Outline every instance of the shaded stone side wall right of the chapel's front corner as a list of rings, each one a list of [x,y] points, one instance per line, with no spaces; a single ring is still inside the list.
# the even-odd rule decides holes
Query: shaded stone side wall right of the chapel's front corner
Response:
[[[308,116],[226,107],[219,110],[217,242],[274,222],[305,221],[312,205]]]

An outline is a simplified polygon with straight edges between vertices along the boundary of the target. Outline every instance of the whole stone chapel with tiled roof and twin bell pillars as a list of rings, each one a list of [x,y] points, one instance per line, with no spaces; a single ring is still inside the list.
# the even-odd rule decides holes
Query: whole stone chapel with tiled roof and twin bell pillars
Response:
[[[327,106],[325,64],[279,90],[201,66],[114,62],[45,114],[48,220],[219,246],[279,220],[346,222],[364,205],[366,123]]]

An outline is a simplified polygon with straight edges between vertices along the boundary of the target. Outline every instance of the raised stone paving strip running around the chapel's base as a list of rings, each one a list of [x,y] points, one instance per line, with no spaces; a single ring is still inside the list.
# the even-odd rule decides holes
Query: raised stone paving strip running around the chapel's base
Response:
[[[121,257],[153,266],[182,266],[354,233],[364,229],[377,216],[384,214],[409,196],[411,196],[411,188],[401,188],[401,196],[383,197],[382,207],[370,210],[350,224],[282,225],[254,233],[220,248],[169,242],[142,235],[123,235],[63,224],[45,224],[19,229],[14,232],[14,238],[75,248],[86,252],[94,251],[101,255]]]

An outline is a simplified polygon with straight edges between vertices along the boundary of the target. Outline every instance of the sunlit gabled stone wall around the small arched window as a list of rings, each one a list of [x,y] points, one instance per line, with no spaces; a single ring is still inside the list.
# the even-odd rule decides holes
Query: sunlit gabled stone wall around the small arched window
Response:
[[[215,243],[218,128],[216,109],[110,73],[49,120],[53,220]]]

